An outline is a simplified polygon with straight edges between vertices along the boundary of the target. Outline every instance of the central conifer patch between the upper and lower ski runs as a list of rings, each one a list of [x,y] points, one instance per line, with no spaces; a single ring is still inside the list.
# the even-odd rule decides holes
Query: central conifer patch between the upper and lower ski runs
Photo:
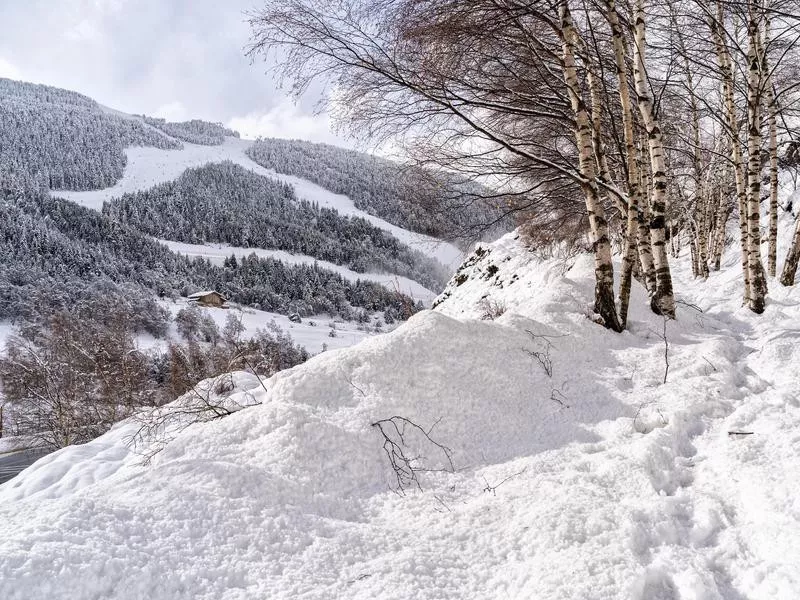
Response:
[[[403,275],[430,289],[448,276],[366,220],[299,200],[291,186],[231,162],[187,170],[177,181],[112,200],[103,212],[163,239],[285,250],[360,273]]]

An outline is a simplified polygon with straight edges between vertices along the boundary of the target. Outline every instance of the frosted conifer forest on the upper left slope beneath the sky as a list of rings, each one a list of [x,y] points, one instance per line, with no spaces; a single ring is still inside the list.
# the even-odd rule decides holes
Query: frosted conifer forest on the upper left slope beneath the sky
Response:
[[[91,190],[122,177],[129,146],[180,148],[136,119],[76,92],[0,78],[0,180]]]

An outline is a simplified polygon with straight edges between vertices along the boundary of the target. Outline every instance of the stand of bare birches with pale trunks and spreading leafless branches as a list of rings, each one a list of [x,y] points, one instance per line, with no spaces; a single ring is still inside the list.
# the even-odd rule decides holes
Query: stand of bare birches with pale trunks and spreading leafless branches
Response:
[[[674,318],[669,254],[687,241],[707,277],[733,213],[744,302],[763,312],[797,144],[795,0],[270,0],[250,24],[250,55],[295,95],[325,85],[351,132],[488,182],[534,240],[584,240],[607,327],[625,327],[632,277]]]

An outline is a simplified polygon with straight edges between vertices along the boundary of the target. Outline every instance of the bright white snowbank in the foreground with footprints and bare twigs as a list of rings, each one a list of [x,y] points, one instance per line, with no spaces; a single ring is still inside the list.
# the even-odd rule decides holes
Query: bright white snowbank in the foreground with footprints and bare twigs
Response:
[[[795,600],[800,292],[724,263],[614,334],[590,257],[481,245],[396,330],[0,486],[0,598]]]

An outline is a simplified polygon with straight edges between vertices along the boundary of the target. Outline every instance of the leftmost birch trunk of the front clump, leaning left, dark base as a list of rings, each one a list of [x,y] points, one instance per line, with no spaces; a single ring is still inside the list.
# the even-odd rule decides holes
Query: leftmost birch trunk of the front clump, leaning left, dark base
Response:
[[[595,311],[603,319],[604,325],[614,331],[622,328],[617,316],[614,299],[614,266],[611,262],[611,240],[608,235],[608,221],[597,191],[595,181],[595,157],[592,146],[592,126],[589,113],[578,83],[578,70],[575,64],[575,48],[578,34],[572,21],[568,0],[559,4],[561,29],[561,49],[564,83],[567,86],[570,104],[575,115],[575,140],[578,144],[578,163],[582,187],[586,198],[586,211],[589,215],[589,228],[595,266]]]

